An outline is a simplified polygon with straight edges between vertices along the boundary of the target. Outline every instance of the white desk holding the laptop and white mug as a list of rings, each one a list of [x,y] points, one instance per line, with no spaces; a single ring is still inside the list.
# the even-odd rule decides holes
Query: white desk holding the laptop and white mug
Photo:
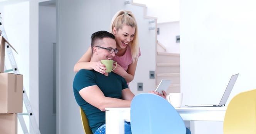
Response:
[[[224,121],[227,107],[176,108],[184,121]],[[106,108],[106,134],[124,134],[124,122],[130,120],[130,108]],[[193,128],[190,130],[192,134]],[[194,126],[193,126],[194,127]]]

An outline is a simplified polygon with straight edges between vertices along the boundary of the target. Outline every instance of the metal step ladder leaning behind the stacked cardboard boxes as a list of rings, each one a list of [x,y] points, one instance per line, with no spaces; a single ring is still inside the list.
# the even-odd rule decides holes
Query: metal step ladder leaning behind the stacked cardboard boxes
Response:
[[[2,31],[1,36],[3,36],[8,41],[7,35],[6,35],[5,30],[3,28],[1,13],[0,13],[0,30]],[[5,48],[5,55],[6,54],[8,55],[10,65],[12,66],[12,69],[8,69],[8,70],[6,69],[6,66],[5,66],[5,69],[4,69],[5,72],[13,72],[14,74],[20,74],[19,69],[17,67],[17,64],[15,62],[15,59],[14,59],[13,53],[12,53],[12,48],[7,44],[5,45],[5,47],[6,47]],[[32,111],[32,108],[30,106],[29,98],[27,96],[27,92],[26,92],[24,87],[23,87],[23,102],[24,102],[25,107],[27,109],[27,113],[18,113],[18,119],[19,119],[19,122],[20,122],[20,126],[22,127],[23,133],[24,134],[29,134],[29,131],[27,129],[27,126],[26,126],[24,118],[23,118],[24,115],[27,115],[27,116],[29,116],[29,121],[30,121],[32,129],[34,131],[34,134],[40,134],[39,127],[38,127],[37,122],[35,120],[35,116],[34,116],[34,113]]]

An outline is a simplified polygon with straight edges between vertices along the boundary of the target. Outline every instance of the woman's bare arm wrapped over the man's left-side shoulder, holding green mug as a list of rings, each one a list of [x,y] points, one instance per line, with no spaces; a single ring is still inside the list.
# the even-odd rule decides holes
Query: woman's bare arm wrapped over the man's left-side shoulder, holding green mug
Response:
[[[91,46],[88,50],[84,53],[84,55],[78,60],[78,62],[74,66],[74,72],[78,72],[81,69],[92,70],[94,69],[101,74],[104,74],[105,65],[101,64],[100,61],[98,62],[90,62],[92,56]]]

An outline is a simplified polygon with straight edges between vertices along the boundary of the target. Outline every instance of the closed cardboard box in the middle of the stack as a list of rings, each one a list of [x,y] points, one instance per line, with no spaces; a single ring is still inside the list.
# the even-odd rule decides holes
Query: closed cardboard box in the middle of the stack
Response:
[[[22,113],[23,75],[0,73],[0,113]]]

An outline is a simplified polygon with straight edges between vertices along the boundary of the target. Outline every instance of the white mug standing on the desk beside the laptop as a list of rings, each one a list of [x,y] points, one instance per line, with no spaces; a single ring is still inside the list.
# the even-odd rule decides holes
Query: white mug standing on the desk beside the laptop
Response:
[[[179,108],[182,104],[183,93],[169,93],[167,100],[174,108]]]

